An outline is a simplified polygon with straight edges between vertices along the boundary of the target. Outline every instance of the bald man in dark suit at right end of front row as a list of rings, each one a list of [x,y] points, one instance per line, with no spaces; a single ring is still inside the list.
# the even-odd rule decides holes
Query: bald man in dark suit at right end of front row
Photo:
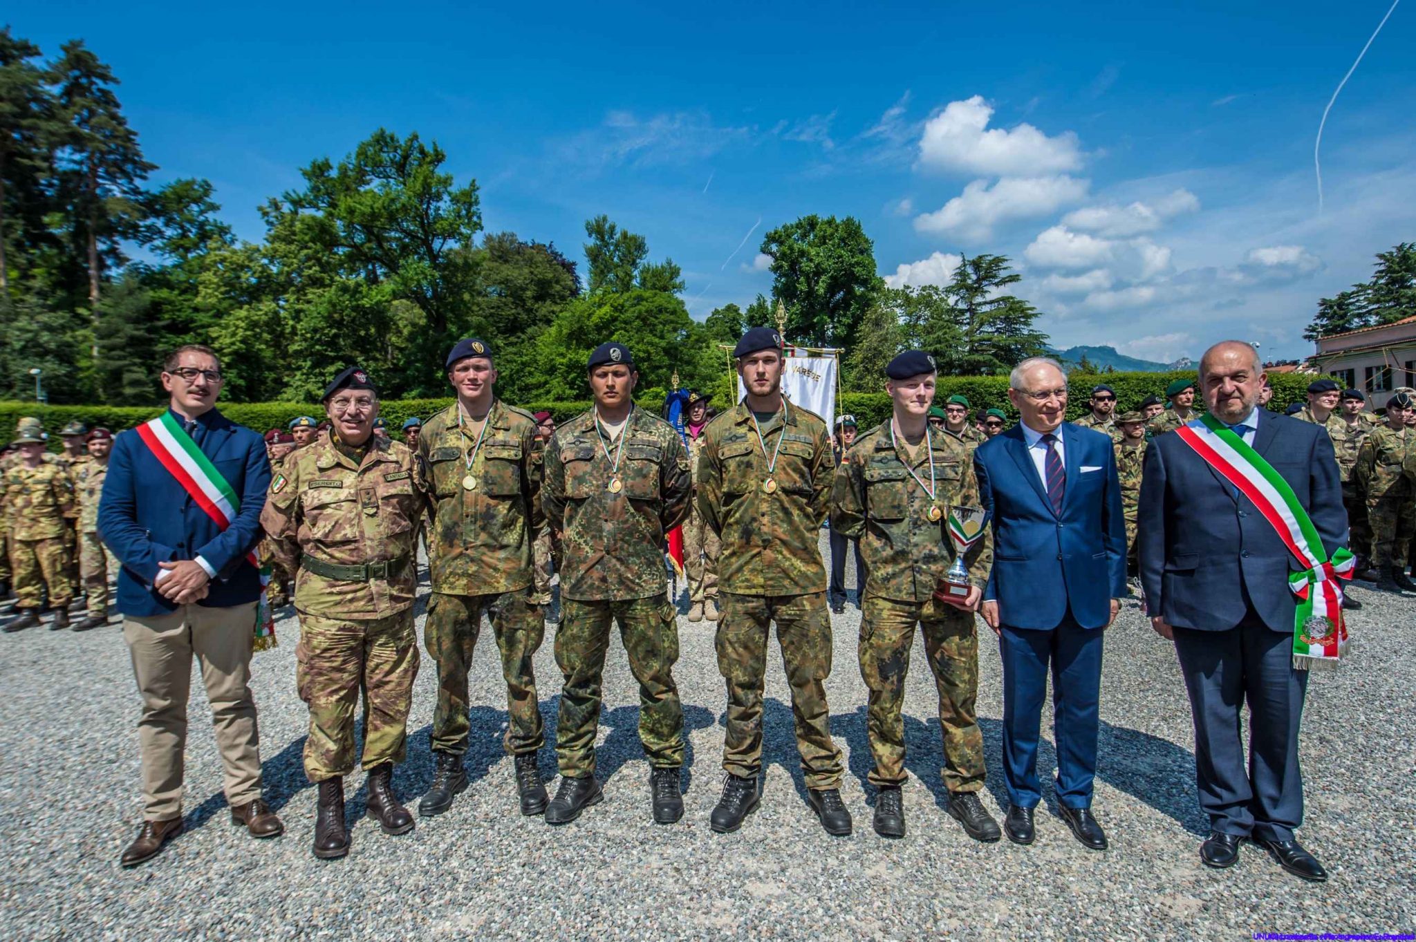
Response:
[[[1347,512],[1327,433],[1259,406],[1266,376],[1249,344],[1211,347],[1199,379],[1211,414],[1289,482],[1331,559],[1347,542]],[[1256,505],[1178,434],[1157,437],[1146,451],[1138,532],[1146,608],[1155,631],[1175,642],[1194,710],[1199,806],[1212,829],[1201,860],[1229,867],[1247,837],[1284,870],[1325,880],[1293,839],[1303,822],[1298,720],[1308,678],[1293,666],[1290,552]],[[1247,757],[1239,738],[1245,702]]]

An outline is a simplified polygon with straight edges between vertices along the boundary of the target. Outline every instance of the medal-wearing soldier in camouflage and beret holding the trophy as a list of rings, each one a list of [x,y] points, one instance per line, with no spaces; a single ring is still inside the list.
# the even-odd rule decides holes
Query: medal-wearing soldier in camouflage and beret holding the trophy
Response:
[[[944,536],[952,506],[980,508],[973,448],[929,434],[926,412],[935,399],[935,361],[906,351],[885,368],[891,419],[861,436],[835,472],[831,526],[861,540],[865,556],[865,605],[861,610],[861,678],[869,689],[867,730],[875,768],[875,833],[905,836],[901,786],[905,772],[905,678],[915,625],[939,692],[949,789],[947,812],[974,840],[995,842],[998,822],[978,801],[986,769],[978,694],[978,635],[974,608],[993,567],[993,532],[967,556],[970,588],[959,604],[936,594],[957,556]]]

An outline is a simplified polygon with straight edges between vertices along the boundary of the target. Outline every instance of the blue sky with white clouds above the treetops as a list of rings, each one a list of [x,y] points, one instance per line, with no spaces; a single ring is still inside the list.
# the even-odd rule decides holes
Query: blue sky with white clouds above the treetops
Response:
[[[1318,119],[1388,0],[314,6],[47,0],[11,25],[86,40],[156,180],[210,178],[242,238],[314,157],[416,130],[487,231],[578,257],[609,214],[700,318],[766,293],[762,235],[816,212],[857,216],[896,284],[1008,255],[1062,347],[1298,356],[1315,300],[1416,239],[1416,6],[1332,109],[1321,214]]]

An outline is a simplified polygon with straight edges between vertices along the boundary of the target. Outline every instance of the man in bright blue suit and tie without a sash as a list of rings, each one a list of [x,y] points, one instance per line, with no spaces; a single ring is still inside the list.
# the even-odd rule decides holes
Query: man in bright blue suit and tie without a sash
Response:
[[[1052,673],[1056,798],[1090,850],[1106,849],[1092,816],[1103,629],[1126,594],[1126,519],[1112,438],[1063,421],[1066,375],[1035,356],[1014,368],[1008,400],[1021,421],[974,453],[984,509],[993,513],[993,574],[983,617],[1003,655],[1003,830],[1034,839],[1038,737]]]

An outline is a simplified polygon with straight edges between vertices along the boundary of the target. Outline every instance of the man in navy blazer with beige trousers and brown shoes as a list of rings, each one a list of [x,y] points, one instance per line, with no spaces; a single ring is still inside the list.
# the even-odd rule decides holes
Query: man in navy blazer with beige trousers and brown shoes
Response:
[[[201,662],[225,793],[235,823],[255,837],[283,830],[261,799],[256,706],[251,696],[261,574],[245,556],[261,539],[270,485],[265,443],[215,410],[221,364],[201,345],[167,358],[169,409],[241,502],[222,530],[187,495],[137,431],[113,440],[98,528],[123,567],[118,610],[143,697],[137,724],[143,768],[143,827],[123,851],[125,867],[157,856],[181,833],[183,751],[193,656]]]

